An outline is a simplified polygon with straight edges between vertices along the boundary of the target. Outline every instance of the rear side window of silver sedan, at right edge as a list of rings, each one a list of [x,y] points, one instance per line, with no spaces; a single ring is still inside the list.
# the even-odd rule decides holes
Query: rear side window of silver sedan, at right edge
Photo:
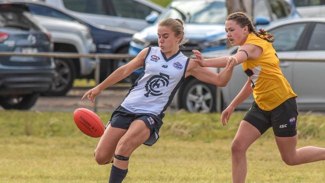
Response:
[[[308,50],[325,50],[325,23],[317,23],[310,41],[308,44]]]

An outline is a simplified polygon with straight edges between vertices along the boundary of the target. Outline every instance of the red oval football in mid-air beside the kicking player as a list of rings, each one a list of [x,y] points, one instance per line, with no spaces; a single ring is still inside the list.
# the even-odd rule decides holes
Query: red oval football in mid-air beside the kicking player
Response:
[[[77,108],[73,112],[76,126],[86,135],[100,137],[104,133],[101,119],[93,111],[86,108]]]

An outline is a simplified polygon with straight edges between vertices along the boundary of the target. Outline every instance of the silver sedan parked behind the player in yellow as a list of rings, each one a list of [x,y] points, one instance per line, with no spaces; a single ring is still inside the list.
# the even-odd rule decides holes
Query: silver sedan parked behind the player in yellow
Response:
[[[293,91],[298,94],[298,108],[301,110],[325,110],[325,72],[323,71],[325,68],[325,18],[286,20],[274,23],[265,30],[275,36],[272,45],[280,59],[282,73]],[[206,53],[204,57],[232,55],[236,51],[237,47],[231,47],[223,51]],[[281,58],[299,58],[305,59],[305,61],[286,61]],[[321,58],[324,61],[314,62],[308,60],[310,58]],[[215,68],[211,69],[216,70]],[[235,66],[227,86],[220,88],[223,107],[229,105],[246,81],[247,75],[242,71],[242,67]],[[214,107],[216,102],[215,87],[209,88],[201,83],[188,85],[186,84],[187,87],[193,89],[178,90],[179,94],[175,95],[174,104],[189,111],[212,111],[214,108],[210,106]],[[203,98],[203,101],[199,103],[198,98]],[[248,109],[252,101],[253,97],[251,96],[236,109]],[[184,105],[179,102],[184,102]]]

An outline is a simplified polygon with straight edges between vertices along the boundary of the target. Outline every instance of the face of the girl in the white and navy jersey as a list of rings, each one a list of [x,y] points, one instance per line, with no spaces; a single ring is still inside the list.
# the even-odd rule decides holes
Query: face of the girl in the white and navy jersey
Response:
[[[162,52],[173,52],[178,48],[180,35],[175,33],[168,26],[158,26],[158,45]]]

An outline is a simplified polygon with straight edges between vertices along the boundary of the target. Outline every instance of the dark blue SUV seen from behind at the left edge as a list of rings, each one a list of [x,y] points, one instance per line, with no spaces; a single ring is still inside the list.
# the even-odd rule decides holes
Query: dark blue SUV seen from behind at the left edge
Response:
[[[50,34],[38,25],[22,4],[0,2],[0,51],[49,52]],[[49,57],[0,56],[0,105],[5,109],[28,109],[54,77]]]

